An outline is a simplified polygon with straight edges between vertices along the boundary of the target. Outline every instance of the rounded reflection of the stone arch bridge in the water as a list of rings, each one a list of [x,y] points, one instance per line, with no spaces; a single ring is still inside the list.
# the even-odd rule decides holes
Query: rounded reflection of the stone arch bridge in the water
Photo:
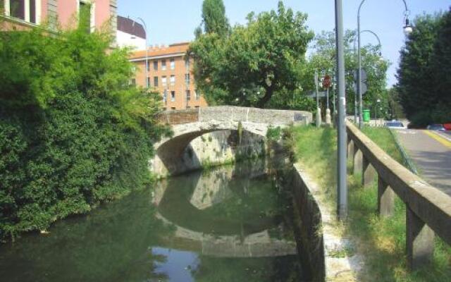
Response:
[[[267,173],[266,160],[256,159],[162,180],[154,197],[156,216],[175,228],[166,244],[214,257],[295,255],[284,217],[290,206]]]

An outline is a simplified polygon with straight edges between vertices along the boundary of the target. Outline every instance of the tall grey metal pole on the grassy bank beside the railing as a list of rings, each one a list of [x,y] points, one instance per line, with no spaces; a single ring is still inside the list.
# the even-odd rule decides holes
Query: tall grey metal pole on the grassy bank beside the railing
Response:
[[[346,168],[346,95],[345,95],[345,50],[343,44],[342,0],[335,0],[335,44],[338,70],[338,192],[337,215],[340,221],[347,218],[347,168]]]

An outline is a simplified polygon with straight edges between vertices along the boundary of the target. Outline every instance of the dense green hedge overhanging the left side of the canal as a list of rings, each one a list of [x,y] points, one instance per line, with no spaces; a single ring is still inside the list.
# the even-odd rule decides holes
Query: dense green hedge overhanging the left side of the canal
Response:
[[[159,95],[85,30],[0,33],[0,240],[149,183]]]

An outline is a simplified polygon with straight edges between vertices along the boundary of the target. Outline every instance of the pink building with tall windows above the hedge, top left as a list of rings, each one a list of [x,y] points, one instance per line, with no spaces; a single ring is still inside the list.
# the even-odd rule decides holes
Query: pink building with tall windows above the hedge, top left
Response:
[[[111,24],[116,34],[117,0],[0,0],[0,30],[27,30],[44,21],[50,27],[71,28],[82,6],[90,5],[91,30]]]

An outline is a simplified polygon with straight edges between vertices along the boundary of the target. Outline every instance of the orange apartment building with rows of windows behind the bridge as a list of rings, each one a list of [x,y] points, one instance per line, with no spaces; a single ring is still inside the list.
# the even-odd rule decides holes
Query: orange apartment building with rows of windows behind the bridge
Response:
[[[187,60],[189,43],[150,47],[147,51],[147,78],[145,78],[146,51],[135,51],[130,61],[135,63],[132,83],[154,87],[163,96],[168,110],[193,109],[207,106],[204,97],[195,89],[192,59]]]

